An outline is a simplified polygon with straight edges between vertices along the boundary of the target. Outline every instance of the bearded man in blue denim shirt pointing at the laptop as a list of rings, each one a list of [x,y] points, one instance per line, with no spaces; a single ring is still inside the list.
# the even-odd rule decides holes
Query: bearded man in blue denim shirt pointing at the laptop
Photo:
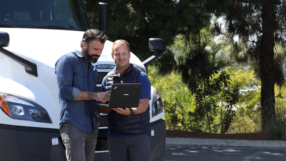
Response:
[[[59,131],[68,161],[94,161],[100,115],[96,101],[109,100],[107,92],[96,92],[97,62],[107,36],[87,30],[80,47],[64,54],[55,63],[59,88]]]

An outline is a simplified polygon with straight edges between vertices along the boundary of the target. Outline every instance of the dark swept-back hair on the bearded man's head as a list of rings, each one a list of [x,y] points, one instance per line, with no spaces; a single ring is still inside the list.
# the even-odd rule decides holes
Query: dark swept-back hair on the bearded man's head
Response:
[[[82,43],[86,42],[86,44],[90,44],[92,41],[97,40],[101,44],[104,44],[108,37],[98,29],[87,30],[82,37],[82,41],[80,42],[80,47],[82,48]]]

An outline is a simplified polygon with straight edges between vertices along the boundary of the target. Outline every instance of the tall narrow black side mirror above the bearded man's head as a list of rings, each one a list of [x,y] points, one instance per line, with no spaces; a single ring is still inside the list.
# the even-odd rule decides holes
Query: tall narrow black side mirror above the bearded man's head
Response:
[[[98,4],[99,9],[99,17],[98,17],[98,23],[99,23],[99,30],[104,32],[106,36],[109,34],[109,5],[107,3],[99,3]]]

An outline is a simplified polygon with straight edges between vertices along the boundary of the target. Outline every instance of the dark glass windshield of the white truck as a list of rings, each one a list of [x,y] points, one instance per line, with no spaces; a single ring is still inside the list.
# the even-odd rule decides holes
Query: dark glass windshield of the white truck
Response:
[[[0,0],[0,28],[90,29],[81,0]]]

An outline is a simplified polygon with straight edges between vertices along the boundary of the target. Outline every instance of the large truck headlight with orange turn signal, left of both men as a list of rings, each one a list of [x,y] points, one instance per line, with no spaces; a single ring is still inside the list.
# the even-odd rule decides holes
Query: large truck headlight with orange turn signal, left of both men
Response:
[[[52,123],[43,107],[20,96],[0,92],[0,108],[12,119]]]

